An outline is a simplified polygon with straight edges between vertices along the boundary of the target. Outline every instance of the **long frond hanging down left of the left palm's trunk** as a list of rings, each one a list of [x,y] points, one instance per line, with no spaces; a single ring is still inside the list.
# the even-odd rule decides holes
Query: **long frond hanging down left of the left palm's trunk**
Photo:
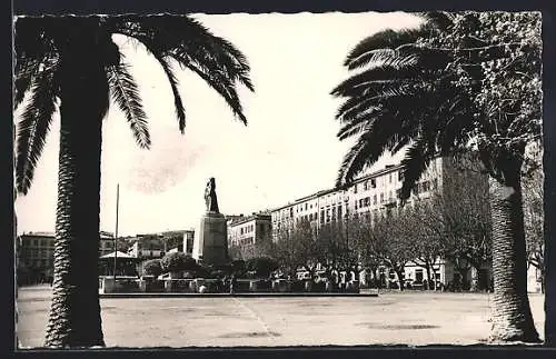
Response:
[[[31,98],[18,123],[16,144],[16,187],[27,195],[42,154],[56,111],[57,88],[53,72],[41,72],[31,89]]]

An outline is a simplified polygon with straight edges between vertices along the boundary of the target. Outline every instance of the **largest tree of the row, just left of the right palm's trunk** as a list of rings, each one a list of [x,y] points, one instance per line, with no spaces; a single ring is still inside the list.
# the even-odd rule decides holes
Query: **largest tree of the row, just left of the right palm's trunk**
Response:
[[[447,158],[441,160],[445,164],[441,186],[433,191],[426,203],[416,207],[429,238],[424,246],[437,258],[455,263],[461,278],[474,268],[477,278],[473,280],[471,289],[480,289],[477,288],[481,282],[480,269],[492,261],[487,177],[480,162],[470,158],[457,162]]]

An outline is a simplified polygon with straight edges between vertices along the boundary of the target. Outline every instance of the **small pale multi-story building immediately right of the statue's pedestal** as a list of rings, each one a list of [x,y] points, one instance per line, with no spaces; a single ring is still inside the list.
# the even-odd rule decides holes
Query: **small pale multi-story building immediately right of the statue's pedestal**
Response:
[[[241,247],[255,245],[257,241],[270,238],[270,216],[254,213],[239,216],[228,220],[228,246]]]

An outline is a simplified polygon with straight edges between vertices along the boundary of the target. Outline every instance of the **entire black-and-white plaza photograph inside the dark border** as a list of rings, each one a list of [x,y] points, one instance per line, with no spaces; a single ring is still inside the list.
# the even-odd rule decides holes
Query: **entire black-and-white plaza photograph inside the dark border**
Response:
[[[17,350],[545,342],[540,11],[12,27]]]

